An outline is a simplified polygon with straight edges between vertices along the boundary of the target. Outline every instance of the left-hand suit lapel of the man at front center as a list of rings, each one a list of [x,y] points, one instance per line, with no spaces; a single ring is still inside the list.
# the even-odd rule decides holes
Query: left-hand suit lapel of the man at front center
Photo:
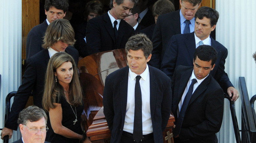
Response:
[[[129,73],[129,67],[127,66],[122,75],[123,80],[120,82],[120,97],[121,97],[121,105],[122,105],[121,113],[122,113],[123,121],[125,119],[126,105],[127,105],[128,73]]]

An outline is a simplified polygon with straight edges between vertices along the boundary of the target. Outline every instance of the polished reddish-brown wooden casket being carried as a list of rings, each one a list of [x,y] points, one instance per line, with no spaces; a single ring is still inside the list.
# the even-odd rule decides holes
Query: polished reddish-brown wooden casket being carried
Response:
[[[127,66],[125,49],[100,52],[86,56],[78,62],[82,88],[84,90],[84,112],[82,123],[93,143],[110,142],[111,132],[103,114],[103,90],[106,76]],[[163,132],[164,143],[173,143],[174,117],[170,115]]]

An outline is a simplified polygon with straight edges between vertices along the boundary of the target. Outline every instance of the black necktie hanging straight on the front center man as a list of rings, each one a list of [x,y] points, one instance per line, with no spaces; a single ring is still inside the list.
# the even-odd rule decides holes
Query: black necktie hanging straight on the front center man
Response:
[[[133,123],[133,139],[138,143],[142,139],[142,100],[139,79],[141,76],[136,76],[135,84],[135,109]]]

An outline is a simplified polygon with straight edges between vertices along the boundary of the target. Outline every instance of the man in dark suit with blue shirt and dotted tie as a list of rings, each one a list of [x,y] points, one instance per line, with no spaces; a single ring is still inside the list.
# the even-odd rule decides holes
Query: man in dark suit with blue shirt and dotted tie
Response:
[[[160,69],[168,42],[173,35],[186,32],[191,33],[194,31],[194,16],[201,5],[201,2],[202,0],[180,0],[180,10],[163,14],[158,17],[152,37],[152,59],[149,62],[153,67]],[[185,29],[188,29],[189,31],[184,32]]]

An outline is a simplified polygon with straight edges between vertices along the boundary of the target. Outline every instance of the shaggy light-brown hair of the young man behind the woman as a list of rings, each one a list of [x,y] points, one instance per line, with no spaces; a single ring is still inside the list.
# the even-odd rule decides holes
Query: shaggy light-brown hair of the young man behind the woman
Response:
[[[75,44],[75,32],[70,22],[66,19],[54,20],[46,29],[42,47],[53,46],[59,40],[73,46]]]

